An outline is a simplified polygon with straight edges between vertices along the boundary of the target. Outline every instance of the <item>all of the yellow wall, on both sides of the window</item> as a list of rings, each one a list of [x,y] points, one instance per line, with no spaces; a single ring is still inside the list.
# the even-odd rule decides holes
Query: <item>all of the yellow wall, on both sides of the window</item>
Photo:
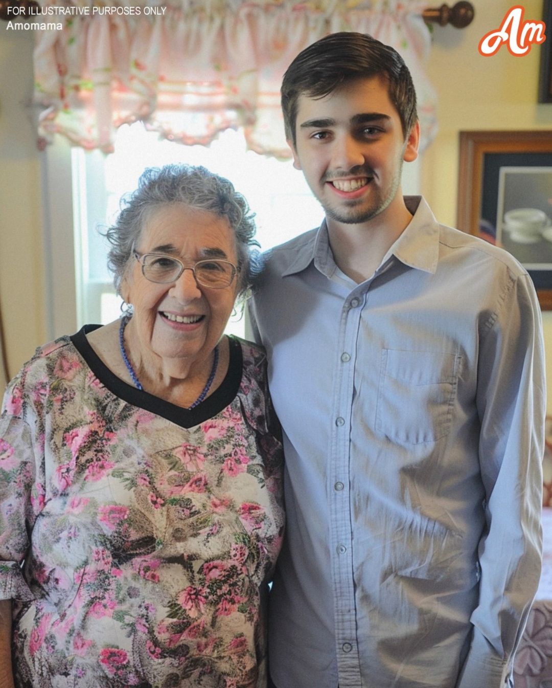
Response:
[[[453,4],[454,1],[449,4]],[[552,129],[552,105],[538,105],[533,48],[514,58],[501,48],[483,58],[481,36],[498,28],[511,0],[472,0],[474,22],[464,30],[434,29],[428,74],[439,95],[439,134],[426,151],[422,191],[434,213],[456,222],[458,133],[462,129]],[[542,0],[527,0],[526,19],[540,19]],[[428,0],[428,6],[438,6]],[[0,23],[0,303],[10,373],[46,339],[41,158],[36,149],[30,33]],[[549,28],[552,40],[552,27]],[[544,314],[549,412],[552,413],[552,311]]]

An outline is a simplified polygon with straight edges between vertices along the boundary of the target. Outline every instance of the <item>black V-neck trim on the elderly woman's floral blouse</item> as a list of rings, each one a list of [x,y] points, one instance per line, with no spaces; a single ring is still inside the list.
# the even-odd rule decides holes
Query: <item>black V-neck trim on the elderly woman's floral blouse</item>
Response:
[[[100,380],[100,383],[115,396],[129,402],[129,404],[156,413],[157,416],[162,416],[181,427],[190,428],[213,418],[236,398],[241,383],[243,352],[239,341],[232,336],[228,337],[230,345],[228,372],[221,385],[195,409],[184,409],[146,391],[141,391],[137,387],[127,385],[113,374],[93,350],[86,336],[101,326],[85,325],[76,334],[71,335],[71,342],[82,358],[85,359],[93,374]]]

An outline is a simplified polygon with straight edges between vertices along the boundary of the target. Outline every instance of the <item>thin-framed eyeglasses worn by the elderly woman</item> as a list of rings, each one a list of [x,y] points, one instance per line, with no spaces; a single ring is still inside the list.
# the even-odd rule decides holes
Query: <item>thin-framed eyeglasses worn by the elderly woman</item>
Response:
[[[232,284],[238,272],[238,268],[228,260],[200,260],[186,268],[178,258],[171,258],[164,253],[134,251],[134,256],[142,266],[142,275],[158,284],[175,282],[184,270],[192,270],[195,281],[202,287],[224,289]]]

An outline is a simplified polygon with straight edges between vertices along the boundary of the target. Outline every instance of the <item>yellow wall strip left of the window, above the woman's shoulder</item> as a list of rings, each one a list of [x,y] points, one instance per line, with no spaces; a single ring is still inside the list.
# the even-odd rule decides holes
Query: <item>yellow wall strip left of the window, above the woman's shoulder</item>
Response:
[[[30,32],[0,21],[0,305],[11,375],[46,339],[32,49]]]

